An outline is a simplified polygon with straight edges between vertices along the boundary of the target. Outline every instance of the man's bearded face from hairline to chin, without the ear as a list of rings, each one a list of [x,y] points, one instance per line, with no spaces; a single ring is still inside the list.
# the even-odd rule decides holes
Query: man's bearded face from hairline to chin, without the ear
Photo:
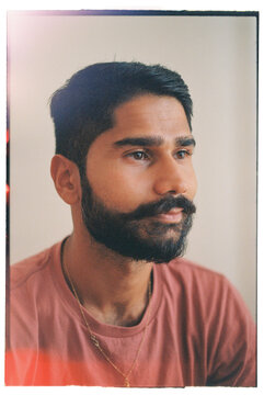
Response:
[[[194,139],[182,104],[145,94],[119,105],[91,145],[82,215],[93,238],[136,260],[183,253],[192,226]]]

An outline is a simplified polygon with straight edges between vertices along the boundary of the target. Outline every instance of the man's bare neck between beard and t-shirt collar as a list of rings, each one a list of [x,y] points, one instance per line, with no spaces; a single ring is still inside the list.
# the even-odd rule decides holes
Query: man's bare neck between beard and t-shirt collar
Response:
[[[66,279],[70,276],[81,304],[95,319],[118,326],[141,320],[149,302],[151,263],[124,258],[76,234],[65,242],[62,262]]]

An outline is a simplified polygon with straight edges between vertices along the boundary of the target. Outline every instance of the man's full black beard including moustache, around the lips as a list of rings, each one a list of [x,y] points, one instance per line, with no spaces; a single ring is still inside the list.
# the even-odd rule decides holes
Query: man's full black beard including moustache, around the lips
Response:
[[[158,202],[141,204],[130,213],[110,210],[95,196],[85,176],[81,177],[82,219],[95,241],[134,260],[162,263],[183,256],[186,236],[196,207],[185,196],[168,195]],[[177,224],[154,221],[156,215],[182,208]]]

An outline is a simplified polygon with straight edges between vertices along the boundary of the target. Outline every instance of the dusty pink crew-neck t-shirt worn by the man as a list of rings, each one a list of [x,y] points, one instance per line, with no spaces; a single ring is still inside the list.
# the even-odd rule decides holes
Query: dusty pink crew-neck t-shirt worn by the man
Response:
[[[60,249],[61,242],[11,269],[5,384],[123,386],[89,338]],[[185,259],[154,266],[151,302],[138,325],[105,325],[84,314],[124,373],[149,321],[131,386],[255,386],[255,327],[240,295],[221,274]]]

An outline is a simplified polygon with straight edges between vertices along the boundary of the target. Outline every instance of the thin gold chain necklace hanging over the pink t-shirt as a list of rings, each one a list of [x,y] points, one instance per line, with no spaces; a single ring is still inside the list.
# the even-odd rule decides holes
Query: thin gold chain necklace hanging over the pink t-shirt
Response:
[[[80,298],[79,298],[79,296],[78,296],[78,293],[77,293],[77,291],[76,291],[76,287],[74,287],[74,285],[73,285],[72,280],[71,280],[71,276],[70,276],[70,273],[69,273],[69,269],[68,269],[68,267],[67,267],[66,263],[65,263],[65,269],[66,269],[66,274],[67,274],[67,276],[68,276],[68,279],[69,279],[69,282],[70,282],[70,286],[71,286],[71,289],[72,289],[72,291],[73,291],[74,297],[76,297],[76,300],[77,300],[77,302],[78,302],[78,305],[79,305],[79,307],[80,307],[80,312],[81,312],[82,318],[83,318],[83,320],[84,320],[84,323],[85,323],[85,327],[87,327],[87,329],[88,329],[88,331],[89,331],[89,336],[90,336],[90,339],[91,339],[92,343],[96,347],[96,349],[100,350],[100,352],[103,354],[103,357],[105,358],[105,360],[123,376],[123,379],[124,379],[124,386],[129,387],[129,386],[130,386],[129,375],[131,374],[131,371],[134,370],[135,364],[136,364],[136,362],[137,362],[137,360],[138,360],[138,356],[139,356],[139,352],[140,352],[140,350],[141,350],[141,347],[142,347],[142,343],[144,343],[144,340],[145,340],[145,337],[146,337],[147,327],[149,326],[150,308],[148,309],[147,324],[146,324],[146,326],[145,326],[145,328],[144,328],[144,334],[142,334],[141,340],[140,340],[140,342],[139,342],[139,346],[138,346],[138,350],[137,350],[137,352],[136,352],[136,357],[135,357],[135,359],[134,359],[134,361],[133,361],[133,364],[131,364],[129,371],[125,374],[124,372],[122,372],[122,370],[120,370],[118,366],[116,366],[116,364],[115,364],[115,363],[111,360],[111,358],[105,353],[105,351],[103,350],[103,348],[101,347],[101,345],[100,345],[100,342],[99,342],[99,339],[97,339],[96,336],[92,332],[92,330],[91,330],[91,328],[90,328],[90,325],[88,324],[87,317],[85,317],[85,315],[84,315],[84,313],[83,313],[84,307],[82,306],[82,304],[81,304],[81,302],[80,302]],[[150,298],[151,298],[151,280],[149,280],[149,285],[148,285],[148,303],[150,302]]]

